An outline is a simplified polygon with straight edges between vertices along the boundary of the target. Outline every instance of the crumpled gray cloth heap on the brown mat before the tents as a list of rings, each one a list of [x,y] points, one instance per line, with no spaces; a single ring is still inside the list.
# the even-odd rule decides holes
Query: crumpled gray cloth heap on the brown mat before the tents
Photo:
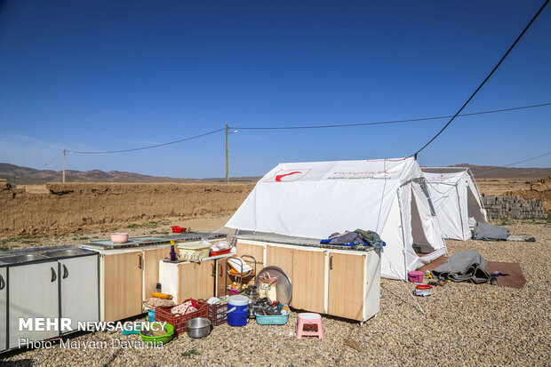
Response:
[[[440,280],[450,279],[453,282],[486,283],[490,280],[490,275],[486,273],[486,260],[476,250],[454,253],[432,273]]]

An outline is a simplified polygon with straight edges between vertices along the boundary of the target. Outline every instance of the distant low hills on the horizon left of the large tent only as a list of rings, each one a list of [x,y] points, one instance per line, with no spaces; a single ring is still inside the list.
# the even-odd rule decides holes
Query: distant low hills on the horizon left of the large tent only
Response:
[[[52,170],[35,170],[14,164],[0,163],[0,179],[8,180],[15,185],[43,185],[47,182],[61,182],[62,172]],[[256,182],[260,177],[232,177],[233,182]],[[212,179],[174,179],[156,177],[139,173],[92,170],[86,172],[65,171],[67,182],[122,182],[122,183],[155,183],[155,182],[225,182],[225,178]]]

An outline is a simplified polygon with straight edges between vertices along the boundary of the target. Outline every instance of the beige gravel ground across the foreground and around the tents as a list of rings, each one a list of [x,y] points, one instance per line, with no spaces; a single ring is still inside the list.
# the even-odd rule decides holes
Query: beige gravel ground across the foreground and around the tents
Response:
[[[25,350],[8,355],[8,365],[549,365],[551,360],[551,228],[515,222],[512,234],[536,243],[448,241],[450,254],[478,250],[485,259],[519,262],[528,281],[523,289],[452,283],[417,298],[422,315],[400,281],[383,280],[379,315],[358,323],[323,317],[324,338],[295,339],[296,314],[284,326],[217,326],[205,339],[186,335],[164,348],[110,347],[111,339],[136,335],[96,332],[74,341],[108,341],[104,349]],[[144,229],[144,234],[148,233]],[[138,230],[134,234],[140,234]],[[46,241],[47,242],[47,241]],[[62,244],[61,242],[57,242]],[[66,243],[71,243],[70,240]],[[74,241],[72,242],[74,243]],[[52,243],[44,243],[52,245]],[[413,286],[407,284],[412,290]],[[494,294],[495,293],[495,294]],[[343,344],[355,340],[360,351]],[[186,356],[195,351],[196,355]]]

